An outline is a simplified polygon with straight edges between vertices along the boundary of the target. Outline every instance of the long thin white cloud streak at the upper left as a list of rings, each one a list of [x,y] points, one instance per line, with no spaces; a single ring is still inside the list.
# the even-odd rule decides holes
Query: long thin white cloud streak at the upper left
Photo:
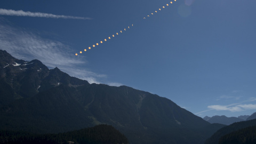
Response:
[[[25,12],[22,10],[15,11],[15,10],[6,10],[0,9],[0,15],[12,15],[12,16],[19,16],[19,17],[41,17],[41,18],[54,18],[54,19],[81,19],[81,20],[90,20],[91,18],[84,18],[84,17],[74,17],[69,15],[55,15],[51,13],[41,13],[41,12]]]

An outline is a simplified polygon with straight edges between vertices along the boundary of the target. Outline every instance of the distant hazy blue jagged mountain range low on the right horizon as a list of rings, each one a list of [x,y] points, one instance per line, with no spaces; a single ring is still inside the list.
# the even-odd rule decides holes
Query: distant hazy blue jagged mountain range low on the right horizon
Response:
[[[233,124],[235,122],[241,122],[241,121],[245,121],[242,118],[237,118],[237,117],[226,117],[226,116],[213,116],[213,117],[208,117],[205,116],[203,118],[205,121],[213,124],[213,123],[219,123],[219,124],[225,124],[225,125],[230,125]]]

